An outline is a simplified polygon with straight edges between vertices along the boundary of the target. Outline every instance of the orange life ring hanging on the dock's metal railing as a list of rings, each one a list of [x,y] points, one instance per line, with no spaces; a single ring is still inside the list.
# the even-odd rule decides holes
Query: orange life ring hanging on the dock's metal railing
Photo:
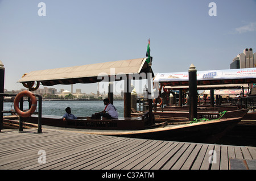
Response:
[[[19,109],[19,100],[23,97],[23,96],[29,96],[32,100],[32,105],[31,105],[31,108],[30,110],[24,112],[24,111],[21,111]],[[19,92],[19,94],[17,94],[15,96],[15,99],[14,99],[14,110],[16,111],[16,113],[18,113],[19,116],[21,117],[29,117],[32,115],[32,113],[35,112],[36,110],[36,104],[38,102],[36,101],[36,96],[35,94],[33,94],[32,92],[30,91],[27,91],[27,90],[24,90],[24,91],[21,91]]]

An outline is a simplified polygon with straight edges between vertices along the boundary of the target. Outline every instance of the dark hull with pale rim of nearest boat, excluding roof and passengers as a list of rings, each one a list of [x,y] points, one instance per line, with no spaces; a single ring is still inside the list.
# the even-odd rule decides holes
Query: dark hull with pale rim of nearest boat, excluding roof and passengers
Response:
[[[34,123],[37,123],[37,117],[33,116]],[[126,128],[115,129],[113,127],[104,127],[102,125],[105,123],[110,123],[110,120],[98,120],[97,123],[101,122],[101,125],[96,127],[84,127],[79,125],[68,125],[68,122],[64,122],[61,119],[46,119],[45,116],[42,116],[43,125],[52,125],[56,127],[64,128],[79,128],[73,129],[73,131],[84,132],[87,134],[100,134],[106,136],[119,136],[119,137],[132,137],[132,138],[145,138],[153,140],[167,140],[167,141],[185,141],[185,142],[207,142],[214,143],[217,142],[222,136],[224,136],[228,131],[237,125],[241,121],[242,117],[228,118],[228,119],[219,119],[212,121],[204,121],[200,123],[193,124],[183,124],[183,125],[167,125],[166,127],[160,128],[145,128],[145,122],[141,122],[141,129],[138,130],[129,130],[136,121],[136,124],[139,123],[139,120],[131,119],[133,122],[126,121],[126,124],[123,124]],[[90,120],[92,121],[92,120]],[[124,121],[124,120],[123,120]],[[134,122],[135,121],[135,122]],[[122,121],[121,121],[122,122]],[[74,121],[72,123],[82,123],[81,121]],[[89,122],[88,122],[89,123]],[[92,123],[92,122],[90,122]],[[94,128],[94,129],[92,129]],[[121,127],[120,127],[121,128]]]

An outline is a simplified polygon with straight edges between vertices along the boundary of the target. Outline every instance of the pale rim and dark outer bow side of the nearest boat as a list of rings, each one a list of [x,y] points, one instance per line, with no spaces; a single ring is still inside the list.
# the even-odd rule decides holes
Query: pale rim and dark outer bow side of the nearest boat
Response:
[[[214,143],[233,129],[241,119],[242,117],[236,117],[141,131],[104,132],[101,134],[152,140]]]

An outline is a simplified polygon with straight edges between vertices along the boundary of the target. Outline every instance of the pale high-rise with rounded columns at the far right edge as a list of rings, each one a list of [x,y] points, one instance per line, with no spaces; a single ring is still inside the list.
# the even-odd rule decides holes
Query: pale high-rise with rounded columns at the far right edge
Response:
[[[240,53],[233,58],[233,62],[230,64],[230,69],[255,68],[255,65],[256,53],[253,53],[252,48],[246,48],[243,50],[243,53]]]

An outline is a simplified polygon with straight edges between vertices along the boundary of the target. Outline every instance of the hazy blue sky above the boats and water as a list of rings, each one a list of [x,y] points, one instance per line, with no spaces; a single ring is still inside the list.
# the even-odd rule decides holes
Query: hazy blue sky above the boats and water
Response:
[[[146,57],[149,38],[154,73],[229,69],[243,49],[256,52],[256,1],[0,0],[7,90],[23,88],[17,81],[33,70]]]

